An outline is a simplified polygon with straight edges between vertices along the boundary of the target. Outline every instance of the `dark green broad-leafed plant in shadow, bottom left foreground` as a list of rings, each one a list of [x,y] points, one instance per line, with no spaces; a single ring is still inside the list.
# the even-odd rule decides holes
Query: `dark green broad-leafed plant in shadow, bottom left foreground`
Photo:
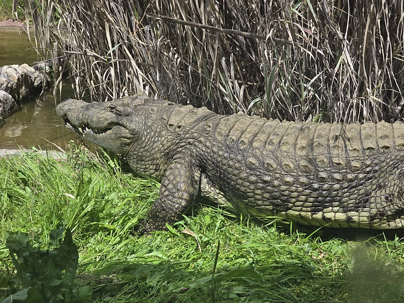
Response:
[[[10,233],[6,247],[15,268],[15,274],[0,279],[8,285],[10,295],[1,303],[86,303],[92,297],[89,286],[79,287],[75,280],[78,251],[70,230],[53,230],[50,241],[53,250],[40,250],[29,242],[26,233]],[[0,285],[5,286],[5,285]]]

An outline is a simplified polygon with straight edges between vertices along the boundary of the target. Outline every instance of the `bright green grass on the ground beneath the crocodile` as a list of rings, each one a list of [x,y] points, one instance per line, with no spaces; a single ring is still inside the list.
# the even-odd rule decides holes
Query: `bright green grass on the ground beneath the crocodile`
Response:
[[[67,160],[0,159],[0,285],[13,270],[8,231],[49,249],[50,231],[68,227],[76,279],[93,288],[94,302],[404,302],[398,238],[322,241],[201,205],[171,231],[140,237],[134,230],[158,187],[84,148]]]

